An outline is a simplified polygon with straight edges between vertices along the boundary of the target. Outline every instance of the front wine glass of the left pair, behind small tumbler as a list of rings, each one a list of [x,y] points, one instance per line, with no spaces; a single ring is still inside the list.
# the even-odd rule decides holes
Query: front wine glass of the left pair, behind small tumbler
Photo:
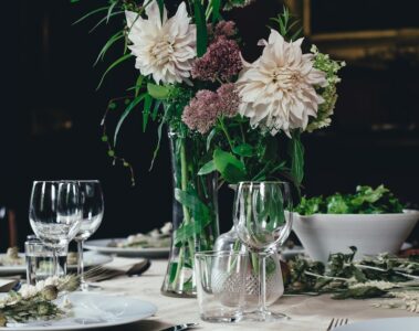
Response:
[[[29,220],[38,238],[52,250],[53,276],[59,276],[59,252],[78,232],[81,212],[77,182],[33,182]]]

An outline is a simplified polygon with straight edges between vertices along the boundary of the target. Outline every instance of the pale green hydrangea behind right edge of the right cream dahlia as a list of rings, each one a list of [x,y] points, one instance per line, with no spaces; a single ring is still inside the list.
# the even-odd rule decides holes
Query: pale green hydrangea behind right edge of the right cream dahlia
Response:
[[[328,54],[320,53],[316,45],[312,46],[311,52],[314,54],[314,67],[326,74],[328,84],[326,87],[317,88],[317,93],[324,98],[324,103],[318,105],[317,117],[308,124],[306,129],[308,132],[331,125],[331,116],[337,100],[336,84],[341,82],[337,73],[346,65],[345,62],[332,60]]]

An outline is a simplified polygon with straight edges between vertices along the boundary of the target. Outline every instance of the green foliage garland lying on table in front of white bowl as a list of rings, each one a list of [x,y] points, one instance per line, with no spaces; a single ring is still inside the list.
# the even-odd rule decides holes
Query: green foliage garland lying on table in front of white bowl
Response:
[[[331,254],[327,266],[303,257],[290,260],[285,292],[333,293],[333,299],[369,299],[390,297],[394,289],[418,289],[419,264],[412,264],[411,258],[381,254],[355,261],[356,247],[350,249],[349,254]]]

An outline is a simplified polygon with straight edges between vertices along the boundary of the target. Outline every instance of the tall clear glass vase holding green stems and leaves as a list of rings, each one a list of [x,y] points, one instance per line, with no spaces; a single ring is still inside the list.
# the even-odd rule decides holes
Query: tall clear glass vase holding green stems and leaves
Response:
[[[169,130],[174,174],[172,237],[161,292],[195,297],[193,256],[211,250],[219,235],[217,175],[198,175],[205,145],[181,130]]]

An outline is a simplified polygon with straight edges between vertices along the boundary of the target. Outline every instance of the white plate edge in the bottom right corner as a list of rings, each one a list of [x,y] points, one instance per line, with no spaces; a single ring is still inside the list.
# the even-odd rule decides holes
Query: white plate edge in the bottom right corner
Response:
[[[355,322],[333,329],[336,331],[418,331],[419,318],[391,318]]]

